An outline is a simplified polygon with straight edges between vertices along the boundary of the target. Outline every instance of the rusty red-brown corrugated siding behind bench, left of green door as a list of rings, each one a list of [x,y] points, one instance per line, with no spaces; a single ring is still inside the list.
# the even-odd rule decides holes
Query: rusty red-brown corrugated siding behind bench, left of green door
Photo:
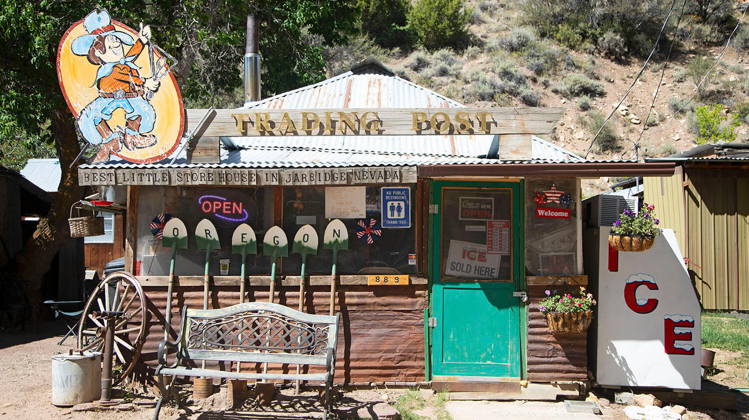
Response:
[[[267,288],[248,287],[249,300],[267,302]],[[141,362],[157,366],[157,351],[164,338],[166,287],[145,287],[149,322]],[[279,287],[276,302],[298,308],[299,289]],[[309,287],[306,312],[328,314],[330,289]],[[238,287],[214,287],[210,304],[225,308],[239,303]],[[343,286],[338,289],[341,314],[337,348],[336,383],[416,382],[424,380],[425,285],[382,287]],[[202,308],[202,287],[175,287],[172,329],[179,330],[184,305]],[[172,338],[176,337],[176,332]],[[246,366],[245,368],[255,368]],[[270,368],[273,368],[271,366]],[[278,367],[280,368],[280,366]]]

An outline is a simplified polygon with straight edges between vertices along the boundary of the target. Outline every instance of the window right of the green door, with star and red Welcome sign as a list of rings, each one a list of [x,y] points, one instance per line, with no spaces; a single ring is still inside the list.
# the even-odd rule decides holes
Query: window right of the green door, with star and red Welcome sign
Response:
[[[577,273],[577,207],[574,179],[527,178],[525,268],[530,276]]]

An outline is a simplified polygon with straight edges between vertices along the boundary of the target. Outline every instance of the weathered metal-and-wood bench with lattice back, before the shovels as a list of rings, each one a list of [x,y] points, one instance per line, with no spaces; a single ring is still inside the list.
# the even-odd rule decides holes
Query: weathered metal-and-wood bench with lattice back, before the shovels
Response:
[[[336,366],[336,341],[340,315],[305,314],[284,305],[247,302],[221,309],[182,310],[181,330],[175,342],[159,344],[156,370],[161,397],[154,420],[159,418],[163,401],[172,395],[177,377],[213,377],[257,380],[320,381],[325,386],[323,418],[332,407],[331,389]],[[166,361],[168,348],[177,350],[175,362]],[[256,373],[212,368],[193,368],[196,361],[281,363],[324,366],[324,373]],[[165,386],[163,375],[172,375]]]

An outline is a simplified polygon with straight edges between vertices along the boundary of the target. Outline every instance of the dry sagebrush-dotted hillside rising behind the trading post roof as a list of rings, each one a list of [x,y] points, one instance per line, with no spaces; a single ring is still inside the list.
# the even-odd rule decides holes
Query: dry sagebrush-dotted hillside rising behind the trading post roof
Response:
[[[594,28],[583,24],[583,16],[573,28],[564,20],[569,15],[562,16],[569,10],[533,10],[532,13],[561,17],[556,17],[560,19],[556,24],[553,19],[540,17],[536,21],[538,24],[532,24],[534,16],[528,11],[528,4],[533,1],[543,7],[552,4],[539,0],[466,1],[469,10],[467,37],[461,45],[447,48],[428,51],[415,43],[406,51],[398,46],[378,46],[371,36],[362,35],[348,46],[327,51],[329,73],[339,73],[366,55],[375,55],[398,76],[467,105],[563,106],[564,117],[554,133],[546,138],[584,155],[606,116],[643,67],[670,2],[651,1],[652,4],[643,6],[640,13],[650,13],[649,22],[634,21],[637,16],[617,15],[610,16],[608,22],[619,26],[601,22]],[[626,2],[619,7],[628,9]],[[565,6],[563,1],[554,4],[557,9]],[[705,13],[712,14],[702,18],[704,10],[700,7],[704,4],[708,7]],[[709,8],[711,4],[714,9]],[[734,40],[700,92],[670,121],[694,94],[741,16],[736,4],[730,1],[695,0],[688,5],[689,13],[685,13],[676,31],[680,5],[680,2],[676,4],[658,52],[598,136],[588,159],[634,159],[632,147],[640,136],[639,159],[668,156],[694,147],[700,136],[695,116],[697,106],[718,105],[712,109],[715,127],[723,130],[731,121],[736,121],[733,123],[738,124],[733,130],[735,141],[749,141],[749,62],[745,61],[749,28],[746,22],[739,26]],[[717,7],[722,7],[720,16]],[[618,9],[612,10],[610,13],[619,13]],[[649,25],[650,32],[654,33],[644,29],[630,31],[621,25],[643,28]],[[622,37],[619,33],[634,35]],[[676,43],[661,81],[661,70],[674,33]],[[655,105],[651,116],[646,118],[656,89]],[[725,121],[721,123],[721,120]]]

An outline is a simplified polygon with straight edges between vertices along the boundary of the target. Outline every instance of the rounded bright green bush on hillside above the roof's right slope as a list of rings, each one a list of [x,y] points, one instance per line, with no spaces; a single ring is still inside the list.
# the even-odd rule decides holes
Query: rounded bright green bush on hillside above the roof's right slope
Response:
[[[464,43],[469,16],[463,0],[419,0],[408,15],[408,23],[419,43],[434,50]]]

